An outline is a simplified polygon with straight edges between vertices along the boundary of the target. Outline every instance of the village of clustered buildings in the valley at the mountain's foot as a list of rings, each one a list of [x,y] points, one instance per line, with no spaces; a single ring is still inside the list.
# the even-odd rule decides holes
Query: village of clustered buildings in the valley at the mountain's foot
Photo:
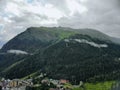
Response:
[[[0,81],[0,90],[72,90],[69,85],[69,80],[60,79],[36,79],[37,83],[34,83],[33,79],[5,79],[2,78]],[[80,87],[83,85],[83,82],[80,82],[80,85],[73,85],[74,87]],[[34,88],[34,89],[33,89]],[[36,89],[35,89],[36,88]],[[38,89],[39,88],[39,89]],[[47,88],[47,89],[46,89]]]

